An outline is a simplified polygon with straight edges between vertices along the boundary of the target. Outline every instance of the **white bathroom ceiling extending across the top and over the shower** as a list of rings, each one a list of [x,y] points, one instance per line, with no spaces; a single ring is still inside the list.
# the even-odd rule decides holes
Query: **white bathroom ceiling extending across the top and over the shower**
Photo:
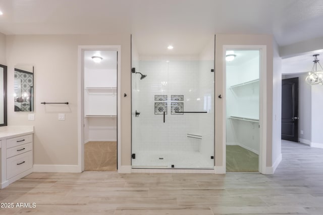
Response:
[[[280,46],[323,37],[323,0],[0,0],[0,10],[4,34],[131,33],[173,53],[217,33],[273,34]]]

